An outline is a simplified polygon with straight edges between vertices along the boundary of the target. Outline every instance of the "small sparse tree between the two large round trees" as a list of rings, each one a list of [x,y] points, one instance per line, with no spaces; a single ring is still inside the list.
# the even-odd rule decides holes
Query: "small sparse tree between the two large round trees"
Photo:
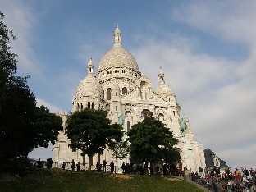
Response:
[[[117,142],[111,150],[112,150],[112,156],[115,158],[118,158],[120,162],[126,158],[129,154],[129,149],[128,149],[128,141],[125,139],[121,139],[121,141]]]

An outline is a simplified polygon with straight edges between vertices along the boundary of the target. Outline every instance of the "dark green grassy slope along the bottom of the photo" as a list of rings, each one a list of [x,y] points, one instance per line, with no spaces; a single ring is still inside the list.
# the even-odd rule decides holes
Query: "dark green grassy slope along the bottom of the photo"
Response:
[[[15,181],[0,182],[0,191],[201,191],[185,181],[159,176],[121,179],[107,173],[36,170]]]

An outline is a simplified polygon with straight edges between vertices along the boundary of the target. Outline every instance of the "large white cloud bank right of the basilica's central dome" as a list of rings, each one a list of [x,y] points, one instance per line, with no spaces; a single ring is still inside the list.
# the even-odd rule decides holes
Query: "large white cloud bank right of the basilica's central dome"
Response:
[[[234,62],[195,54],[190,43],[176,46],[155,40],[148,42],[134,51],[140,71],[158,85],[157,71],[162,66],[166,83],[176,93],[182,114],[190,117],[199,144],[212,149],[231,167],[239,163],[242,167],[252,167],[251,160],[235,164],[233,159],[240,159],[235,149],[249,154],[252,147],[242,146],[254,144],[256,135],[254,57]],[[225,152],[230,156],[223,155]],[[256,158],[255,153],[250,155]]]

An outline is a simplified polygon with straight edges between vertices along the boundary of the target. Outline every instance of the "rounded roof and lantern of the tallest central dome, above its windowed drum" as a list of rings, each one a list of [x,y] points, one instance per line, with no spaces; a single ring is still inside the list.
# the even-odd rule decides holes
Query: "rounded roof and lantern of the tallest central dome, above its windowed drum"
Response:
[[[132,69],[139,71],[135,57],[133,57],[125,48],[121,46],[121,31],[118,26],[115,30],[115,44],[112,49],[110,49],[99,62],[98,71],[104,71],[110,68],[123,68]]]

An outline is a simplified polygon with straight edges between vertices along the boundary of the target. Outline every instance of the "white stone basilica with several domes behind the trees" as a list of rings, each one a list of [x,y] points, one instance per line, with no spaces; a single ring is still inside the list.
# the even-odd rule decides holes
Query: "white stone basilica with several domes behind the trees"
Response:
[[[151,114],[173,131],[179,140],[175,148],[180,153],[182,168],[197,171],[199,167],[205,167],[203,146],[194,140],[188,117],[181,117],[181,107],[176,95],[166,85],[161,67],[156,75],[159,77],[159,85],[153,90],[151,80],[139,71],[135,58],[122,47],[121,31],[117,26],[114,46],[103,56],[95,74],[94,63],[90,58],[87,76],[76,89],[72,112],[85,107],[107,110],[112,123],[121,123],[125,131]],[[65,127],[67,115],[59,115],[63,118]],[[68,144],[69,140],[61,132],[59,141],[54,145],[53,162],[71,162],[72,159],[75,162],[88,162],[87,156],[81,157],[80,150],[72,152]],[[98,158],[97,155],[94,156],[94,165]],[[110,150],[105,149],[100,162],[103,159],[107,163],[114,161],[117,166],[120,165],[112,157]],[[123,162],[129,162],[129,157]]]

